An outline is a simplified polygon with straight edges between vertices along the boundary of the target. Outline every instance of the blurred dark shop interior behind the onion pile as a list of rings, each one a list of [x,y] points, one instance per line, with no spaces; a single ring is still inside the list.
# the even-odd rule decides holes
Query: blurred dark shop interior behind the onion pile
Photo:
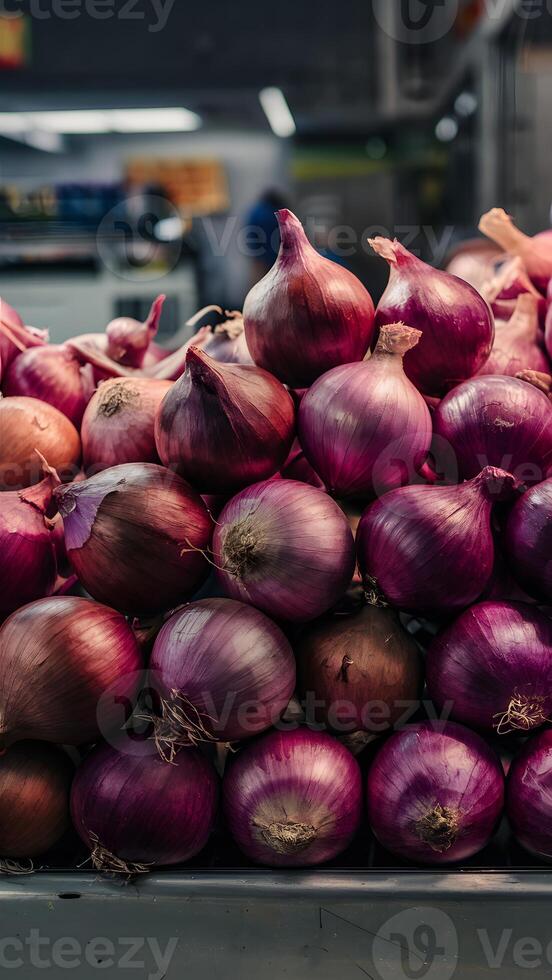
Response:
[[[54,341],[241,308],[296,211],[377,299],[397,236],[443,265],[550,223],[550,0],[1,0],[0,295]]]

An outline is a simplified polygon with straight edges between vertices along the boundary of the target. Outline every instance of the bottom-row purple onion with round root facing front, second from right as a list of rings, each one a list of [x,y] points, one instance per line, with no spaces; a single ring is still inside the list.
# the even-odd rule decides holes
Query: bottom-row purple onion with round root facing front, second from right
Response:
[[[502,767],[462,725],[410,725],[376,755],[367,802],[372,830],[393,854],[424,864],[465,861],[485,847],[502,812]]]

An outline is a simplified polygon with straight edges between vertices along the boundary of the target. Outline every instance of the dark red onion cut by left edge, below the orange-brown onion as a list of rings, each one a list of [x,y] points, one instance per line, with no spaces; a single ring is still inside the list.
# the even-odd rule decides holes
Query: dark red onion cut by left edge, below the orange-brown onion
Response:
[[[54,590],[54,524],[46,513],[59,478],[45,462],[43,470],[36,486],[0,493],[0,618]]]

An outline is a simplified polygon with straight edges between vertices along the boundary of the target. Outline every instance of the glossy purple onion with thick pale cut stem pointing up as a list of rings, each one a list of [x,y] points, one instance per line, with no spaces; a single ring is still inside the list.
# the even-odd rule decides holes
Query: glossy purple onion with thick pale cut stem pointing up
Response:
[[[318,379],[299,409],[299,440],[330,492],[366,497],[412,477],[431,445],[431,416],[403,371],[420,330],[383,326],[373,356]]]

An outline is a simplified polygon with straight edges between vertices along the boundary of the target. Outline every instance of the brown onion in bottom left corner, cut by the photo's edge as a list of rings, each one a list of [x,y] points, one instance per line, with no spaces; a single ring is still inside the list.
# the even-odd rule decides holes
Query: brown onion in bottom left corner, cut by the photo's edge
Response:
[[[69,826],[73,764],[45,742],[19,742],[0,757],[0,857],[33,858]]]

